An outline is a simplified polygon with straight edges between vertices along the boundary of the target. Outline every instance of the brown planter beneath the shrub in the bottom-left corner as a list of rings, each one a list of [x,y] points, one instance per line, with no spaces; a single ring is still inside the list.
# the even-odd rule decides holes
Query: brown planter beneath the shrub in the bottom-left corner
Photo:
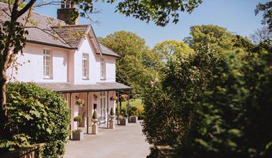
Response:
[[[42,146],[44,146],[44,143],[38,143],[38,144],[29,145],[29,146],[22,146],[22,148],[17,148],[13,151],[2,153],[0,154],[0,157],[2,158],[42,157],[42,155],[40,155]]]

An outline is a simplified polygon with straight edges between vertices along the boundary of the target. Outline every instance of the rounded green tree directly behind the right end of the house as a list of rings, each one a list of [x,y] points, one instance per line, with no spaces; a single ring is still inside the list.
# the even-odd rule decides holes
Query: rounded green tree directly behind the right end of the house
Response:
[[[130,85],[133,95],[142,94],[146,83],[157,76],[156,68],[160,65],[145,40],[135,33],[118,31],[99,37],[99,42],[121,56],[116,61],[116,80]]]

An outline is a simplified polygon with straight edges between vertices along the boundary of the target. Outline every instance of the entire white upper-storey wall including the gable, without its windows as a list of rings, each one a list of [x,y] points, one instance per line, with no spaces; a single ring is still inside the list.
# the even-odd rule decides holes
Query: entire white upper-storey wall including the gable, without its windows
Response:
[[[13,74],[16,81],[22,82],[71,82],[75,84],[115,82],[115,57],[96,54],[92,46],[88,38],[83,40],[77,51],[27,43],[24,55],[17,55],[19,63],[26,63],[18,67],[18,74],[15,74],[14,69],[9,69],[8,76]],[[43,49],[50,49],[52,53],[52,78],[43,76]],[[82,76],[83,53],[89,54],[88,79],[83,79]],[[100,79],[101,57],[105,58],[106,62],[106,80]],[[28,60],[30,60],[29,63]]]

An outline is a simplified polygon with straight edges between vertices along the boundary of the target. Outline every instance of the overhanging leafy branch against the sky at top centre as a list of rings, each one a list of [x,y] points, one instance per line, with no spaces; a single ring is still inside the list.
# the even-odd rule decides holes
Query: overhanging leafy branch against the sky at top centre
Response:
[[[113,3],[115,0],[111,0]],[[132,16],[136,19],[154,21],[158,26],[166,26],[170,18],[173,23],[179,21],[179,12],[193,12],[202,0],[169,0],[169,1],[120,1],[117,10],[120,14]]]

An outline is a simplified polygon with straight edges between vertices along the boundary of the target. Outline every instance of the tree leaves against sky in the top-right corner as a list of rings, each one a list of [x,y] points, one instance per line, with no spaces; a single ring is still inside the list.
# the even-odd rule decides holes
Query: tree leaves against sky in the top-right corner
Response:
[[[272,33],[272,1],[258,3],[255,9],[255,15],[264,12],[262,15],[262,24],[267,25],[269,32]]]

